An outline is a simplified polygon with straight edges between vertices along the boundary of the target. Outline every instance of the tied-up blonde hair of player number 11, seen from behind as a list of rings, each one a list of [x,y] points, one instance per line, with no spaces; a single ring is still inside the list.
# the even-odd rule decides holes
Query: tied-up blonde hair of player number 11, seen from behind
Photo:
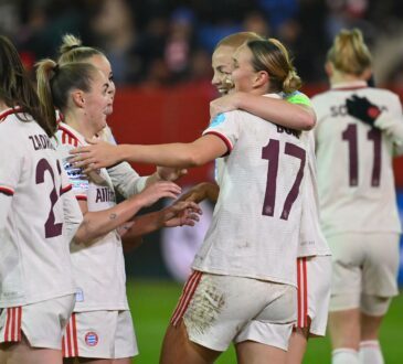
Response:
[[[359,29],[341,30],[327,54],[336,69],[360,76],[372,65],[372,56]]]

